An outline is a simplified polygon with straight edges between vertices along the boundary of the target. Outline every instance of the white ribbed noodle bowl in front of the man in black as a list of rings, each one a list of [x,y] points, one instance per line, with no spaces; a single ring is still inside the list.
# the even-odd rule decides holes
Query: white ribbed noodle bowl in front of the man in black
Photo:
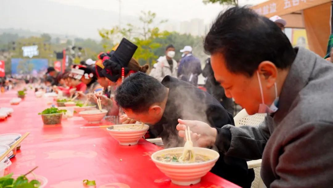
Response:
[[[107,131],[120,145],[136,145],[149,129],[148,125],[144,125],[143,129],[140,129],[141,126],[141,124],[114,125],[108,127]]]

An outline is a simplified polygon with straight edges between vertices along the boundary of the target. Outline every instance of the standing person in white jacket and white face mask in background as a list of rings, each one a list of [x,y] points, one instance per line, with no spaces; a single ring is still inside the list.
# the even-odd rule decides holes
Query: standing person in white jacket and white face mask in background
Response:
[[[166,75],[177,77],[177,61],[173,59],[175,48],[172,44],[166,46],[165,56],[160,57],[156,63],[156,68],[151,76],[162,81]]]

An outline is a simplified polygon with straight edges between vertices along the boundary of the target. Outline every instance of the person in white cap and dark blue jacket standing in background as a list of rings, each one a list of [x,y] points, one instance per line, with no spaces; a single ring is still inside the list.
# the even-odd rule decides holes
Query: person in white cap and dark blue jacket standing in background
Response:
[[[192,47],[185,46],[180,50],[183,54],[179,63],[177,76],[180,80],[187,81],[194,86],[198,85],[198,75],[201,74],[200,60],[192,55]]]

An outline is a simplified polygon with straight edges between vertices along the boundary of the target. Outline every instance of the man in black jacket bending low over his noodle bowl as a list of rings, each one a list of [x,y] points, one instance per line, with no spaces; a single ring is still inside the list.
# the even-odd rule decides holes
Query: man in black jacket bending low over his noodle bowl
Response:
[[[131,74],[117,88],[116,102],[128,118],[151,125],[151,135],[162,137],[166,148],[184,146],[176,131],[179,118],[203,121],[218,128],[234,124],[232,115],[216,99],[171,76],[161,83],[141,72]],[[250,187],[254,179],[254,172],[247,169],[244,159],[222,153],[211,172],[241,187]]]

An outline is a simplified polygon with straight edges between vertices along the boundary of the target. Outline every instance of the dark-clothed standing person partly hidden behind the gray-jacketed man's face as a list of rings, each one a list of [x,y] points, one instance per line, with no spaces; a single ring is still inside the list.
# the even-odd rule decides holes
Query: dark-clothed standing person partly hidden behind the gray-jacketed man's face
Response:
[[[225,96],[223,87],[214,78],[214,72],[210,64],[210,58],[206,59],[206,66],[202,70],[202,75],[206,77],[205,88],[207,89],[207,92],[215,99],[217,99],[217,101],[221,103],[225,110],[233,115],[235,110],[233,101],[232,99]]]

